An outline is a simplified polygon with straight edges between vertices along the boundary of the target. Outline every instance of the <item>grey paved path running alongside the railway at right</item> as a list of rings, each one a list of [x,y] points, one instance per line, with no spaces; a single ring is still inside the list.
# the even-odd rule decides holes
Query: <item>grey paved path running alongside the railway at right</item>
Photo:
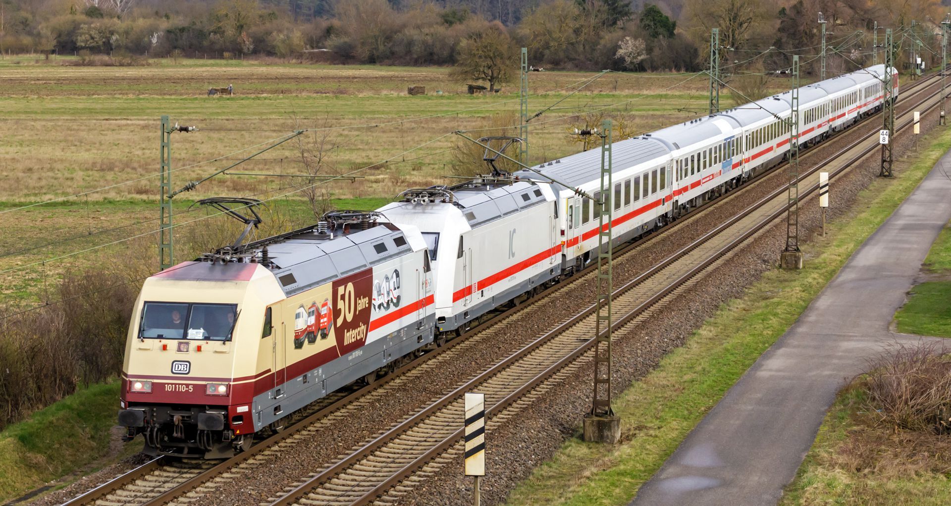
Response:
[[[941,162],[951,167],[951,153]],[[690,432],[631,505],[776,504],[846,378],[884,344],[912,339],[890,333],[888,324],[951,219],[951,181],[938,166]]]

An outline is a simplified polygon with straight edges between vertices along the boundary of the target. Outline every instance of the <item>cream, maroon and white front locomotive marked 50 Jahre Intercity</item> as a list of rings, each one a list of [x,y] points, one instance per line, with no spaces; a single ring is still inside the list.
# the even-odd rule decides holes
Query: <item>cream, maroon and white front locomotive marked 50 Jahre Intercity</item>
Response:
[[[378,213],[226,247],[148,278],[119,422],[149,455],[227,457],[265,428],[433,342],[433,273],[413,226]],[[375,283],[401,280],[384,305]]]

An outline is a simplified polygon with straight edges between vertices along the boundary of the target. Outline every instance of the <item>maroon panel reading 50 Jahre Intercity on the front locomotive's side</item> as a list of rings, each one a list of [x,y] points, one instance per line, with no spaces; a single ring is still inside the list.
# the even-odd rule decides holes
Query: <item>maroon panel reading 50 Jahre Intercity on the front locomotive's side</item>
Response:
[[[372,312],[373,269],[340,278],[334,282],[332,290],[334,338],[342,357],[366,343]]]

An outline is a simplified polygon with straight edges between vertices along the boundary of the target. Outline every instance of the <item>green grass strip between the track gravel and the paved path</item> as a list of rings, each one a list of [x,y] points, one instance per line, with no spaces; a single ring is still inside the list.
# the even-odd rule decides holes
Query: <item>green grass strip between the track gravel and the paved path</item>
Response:
[[[896,180],[874,182],[860,194],[852,216],[829,224],[827,237],[805,244],[809,260],[801,271],[767,272],[744,297],[724,304],[686,344],[671,351],[654,371],[615,399],[613,408],[621,416],[621,432],[633,434],[630,440],[611,447],[585,443],[576,435],[518,485],[506,504],[627,504],[951,147],[951,139],[946,137],[932,135],[926,142],[933,144],[923,148],[913,163],[902,162]],[[842,490],[829,489],[823,500],[809,504],[843,504],[835,494]],[[896,488],[895,492],[902,490]],[[917,504],[901,499],[878,504],[900,503]]]

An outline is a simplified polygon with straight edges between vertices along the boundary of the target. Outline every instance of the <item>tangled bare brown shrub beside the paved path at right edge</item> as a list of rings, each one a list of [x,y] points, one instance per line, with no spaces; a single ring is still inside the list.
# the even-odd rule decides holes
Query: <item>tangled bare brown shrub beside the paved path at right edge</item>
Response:
[[[943,345],[899,344],[869,360],[859,379],[867,412],[878,424],[933,432],[951,405],[951,354]]]

